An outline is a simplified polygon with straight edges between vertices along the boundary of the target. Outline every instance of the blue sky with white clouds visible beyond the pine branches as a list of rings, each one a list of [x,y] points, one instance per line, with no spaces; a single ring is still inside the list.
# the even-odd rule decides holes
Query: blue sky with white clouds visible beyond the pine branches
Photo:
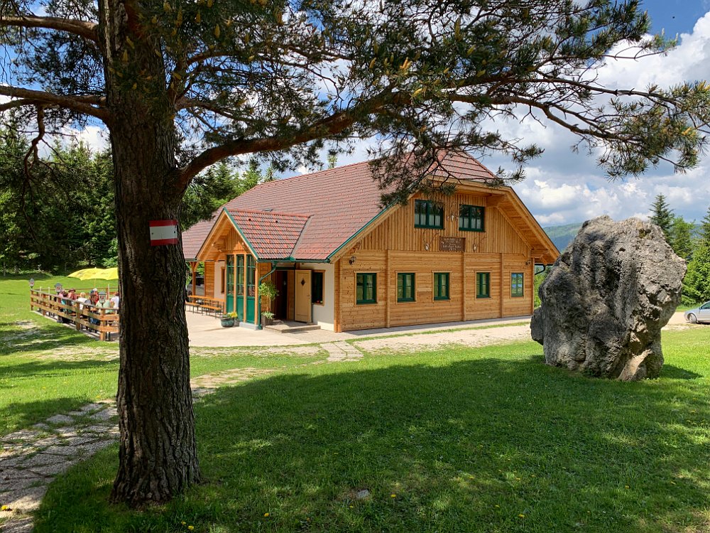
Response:
[[[600,80],[610,87],[625,88],[646,87],[652,82],[667,87],[684,80],[710,80],[710,0],[642,0],[641,5],[650,15],[652,31],[665,30],[670,37],[679,34],[679,45],[667,55],[606,65]],[[659,193],[666,195],[670,207],[686,220],[701,220],[710,206],[710,156],[686,174],[674,174],[666,165],[640,178],[609,182],[593,156],[572,153],[569,147],[575,138],[559,126],[543,127],[528,120],[500,122],[496,127],[545,148],[545,154],[526,169],[528,178],[515,185],[543,226],[582,222],[599,215],[615,220],[645,217]],[[104,142],[99,127],[89,127],[80,136],[93,146]],[[364,161],[366,148],[363,143],[351,156],[341,156],[338,163]],[[503,158],[482,158],[481,162],[491,169],[512,167]]]

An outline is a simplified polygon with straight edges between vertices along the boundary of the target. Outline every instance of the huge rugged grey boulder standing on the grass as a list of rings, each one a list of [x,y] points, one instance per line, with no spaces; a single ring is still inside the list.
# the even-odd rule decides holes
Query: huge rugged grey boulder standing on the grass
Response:
[[[585,222],[540,286],[530,330],[545,362],[624,381],[657,377],[661,328],[680,302],[685,270],[649,222]]]

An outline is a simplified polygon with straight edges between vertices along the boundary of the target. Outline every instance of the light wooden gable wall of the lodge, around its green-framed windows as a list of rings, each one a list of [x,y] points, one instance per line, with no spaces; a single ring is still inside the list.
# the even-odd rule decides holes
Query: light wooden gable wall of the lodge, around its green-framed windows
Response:
[[[469,321],[532,313],[534,261],[530,244],[505,208],[488,197],[441,198],[444,229],[415,228],[414,202],[397,208],[357,242],[336,266],[337,331]],[[459,230],[459,205],[486,208],[485,231]],[[463,237],[464,251],[439,251],[439,237]],[[350,259],[354,264],[350,264]],[[377,303],[356,303],[356,274],[377,274]],[[415,274],[415,301],[397,301],[397,274]],[[449,300],[434,300],[434,273],[449,273]],[[490,297],[476,296],[476,274],[490,274]],[[523,273],[523,297],[511,295],[513,273]]]

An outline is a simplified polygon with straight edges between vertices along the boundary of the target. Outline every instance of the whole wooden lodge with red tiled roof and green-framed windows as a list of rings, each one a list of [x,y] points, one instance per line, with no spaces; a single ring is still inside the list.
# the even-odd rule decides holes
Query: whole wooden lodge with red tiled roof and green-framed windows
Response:
[[[453,194],[388,208],[366,162],[263,183],[184,232],[185,257],[204,262],[204,296],[252,327],[267,279],[275,318],[334,331],[529,315],[555,245],[474,158],[443,156],[428,177],[443,174]]]

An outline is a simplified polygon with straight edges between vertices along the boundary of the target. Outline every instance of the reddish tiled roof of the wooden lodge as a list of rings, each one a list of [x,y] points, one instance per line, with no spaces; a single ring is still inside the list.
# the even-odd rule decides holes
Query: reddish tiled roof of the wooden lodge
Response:
[[[493,181],[495,176],[476,159],[464,153],[449,152],[444,156],[438,168],[432,168],[435,176],[457,178],[461,180],[474,180],[479,182]],[[264,253],[268,254],[268,259],[327,259],[344,242],[361,230],[368,222],[383,211],[380,203],[382,190],[378,187],[378,182],[373,177],[368,161],[354,163],[326,171],[294,176],[282,180],[261,183],[246,193],[234,198],[224,205],[233,217],[237,212],[269,212],[271,213],[263,219],[268,222],[266,225],[258,225],[255,220],[245,220],[240,215],[237,222],[249,222],[250,242],[259,242]],[[290,213],[288,229],[280,228],[278,235],[268,235],[276,226],[274,215],[278,213]],[[285,218],[280,215],[283,222]],[[307,225],[300,228],[300,238],[295,239],[297,230],[297,220],[308,217]],[[249,217],[246,217],[247,219]],[[212,227],[212,222],[207,222]],[[202,241],[209,232],[204,232],[204,224],[193,226],[190,230],[182,234],[185,257],[191,257],[190,253],[197,254],[197,249],[192,252],[185,242],[197,242],[202,235]],[[195,230],[193,235],[193,230]],[[245,235],[246,236],[246,235]],[[275,257],[276,250],[284,251],[293,242],[293,249],[290,254],[282,257]],[[200,245],[202,242],[200,242]],[[259,259],[261,257],[258,250],[255,250]],[[194,256],[192,256],[194,257]]]

